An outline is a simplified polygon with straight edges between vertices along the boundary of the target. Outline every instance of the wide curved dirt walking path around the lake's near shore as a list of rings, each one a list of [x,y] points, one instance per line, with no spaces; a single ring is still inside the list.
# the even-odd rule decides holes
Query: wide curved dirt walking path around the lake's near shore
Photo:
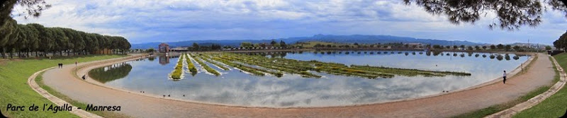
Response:
[[[510,78],[506,84],[498,82],[430,98],[350,107],[274,109],[167,100],[83,81],[72,74],[74,65],[46,71],[43,82],[74,100],[120,105],[120,113],[132,117],[451,117],[515,100],[541,85],[549,85],[555,75],[551,61],[545,54],[537,56],[527,73]],[[77,74],[85,72],[79,69]]]

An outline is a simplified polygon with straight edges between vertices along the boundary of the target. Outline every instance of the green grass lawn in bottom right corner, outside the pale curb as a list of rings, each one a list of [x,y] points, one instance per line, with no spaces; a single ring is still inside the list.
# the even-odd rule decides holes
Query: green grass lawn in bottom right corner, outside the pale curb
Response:
[[[567,69],[567,53],[557,54],[554,56],[563,71]],[[551,97],[540,102],[538,105],[524,110],[514,117],[561,117],[567,110],[567,89],[561,88]]]

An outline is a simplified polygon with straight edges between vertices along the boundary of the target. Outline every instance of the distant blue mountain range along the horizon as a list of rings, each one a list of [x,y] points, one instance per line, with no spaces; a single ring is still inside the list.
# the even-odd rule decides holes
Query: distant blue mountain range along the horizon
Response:
[[[276,42],[283,40],[287,44],[295,44],[296,42],[338,42],[338,43],[354,43],[359,44],[376,44],[376,43],[392,43],[392,42],[403,42],[403,43],[423,43],[431,45],[485,45],[483,43],[468,42],[460,40],[432,40],[432,39],[418,39],[414,37],[398,37],[391,35],[313,35],[312,37],[288,37],[276,39]],[[269,43],[271,40],[188,40],[181,42],[165,42],[169,47],[189,47],[196,42],[198,45],[228,45],[232,47],[240,46],[241,42],[252,42],[252,43]],[[150,47],[157,48],[162,42],[147,42],[141,44],[133,44],[132,49],[148,49]]]

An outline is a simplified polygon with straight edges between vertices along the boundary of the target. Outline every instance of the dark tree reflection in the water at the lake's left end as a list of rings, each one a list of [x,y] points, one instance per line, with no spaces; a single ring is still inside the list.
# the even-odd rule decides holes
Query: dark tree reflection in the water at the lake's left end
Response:
[[[119,64],[113,64],[111,66],[92,69],[91,71],[89,71],[89,76],[96,81],[106,83],[108,81],[114,81],[118,78],[124,78],[125,76],[128,76],[128,73],[130,73],[130,71],[132,71],[132,66],[123,62]]]

